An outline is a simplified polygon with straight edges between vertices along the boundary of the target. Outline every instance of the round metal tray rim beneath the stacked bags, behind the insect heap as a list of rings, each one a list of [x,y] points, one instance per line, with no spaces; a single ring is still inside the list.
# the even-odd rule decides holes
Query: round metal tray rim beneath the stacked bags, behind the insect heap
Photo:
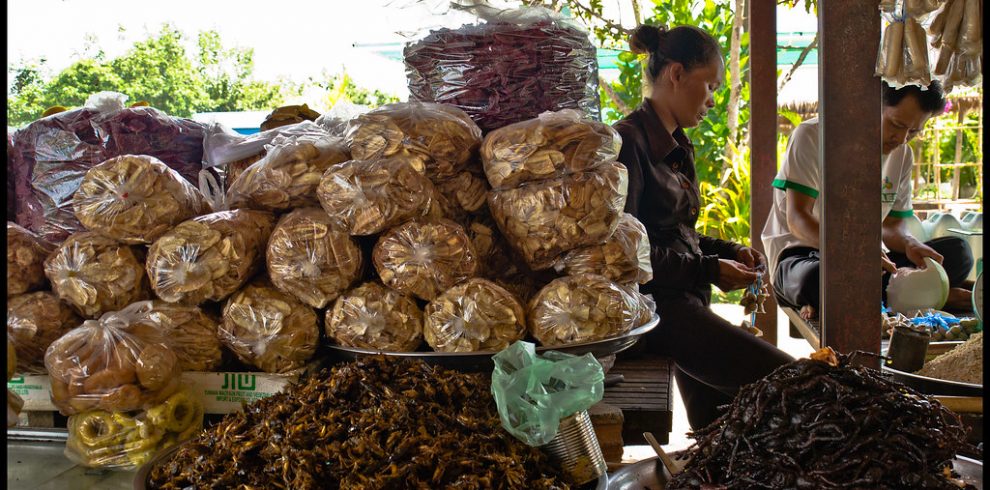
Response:
[[[656,328],[660,323],[660,317],[654,313],[653,318],[645,325],[634,328],[624,335],[612,337],[610,339],[596,340],[594,342],[581,342],[577,344],[561,345],[556,347],[537,347],[537,352],[555,350],[574,355],[584,355],[591,353],[596,358],[602,358],[622,352],[632,347],[643,335]],[[328,347],[329,355],[335,360],[351,361],[362,356],[385,355],[390,357],[400,357],[407,359],[418,359],[430,364],[442,366],[449,369],[468,372],[491,371],[495,364],[492,356],[498,354],[497,351],[481,352],[386,352],[374,349],[362,349],[360,347],[344,347],[331,345]]]

